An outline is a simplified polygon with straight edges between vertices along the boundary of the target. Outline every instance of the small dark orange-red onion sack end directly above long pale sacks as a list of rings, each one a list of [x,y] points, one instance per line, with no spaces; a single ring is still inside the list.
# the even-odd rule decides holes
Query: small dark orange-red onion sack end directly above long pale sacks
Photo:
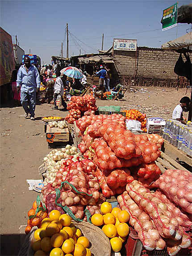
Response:
[[[107,185],[111,189],[118,189],[119,187],[125,187],[129,182],[132,182],[134,178],[130,175],[128,168],[121,168],[112,171],[106,179]]]

